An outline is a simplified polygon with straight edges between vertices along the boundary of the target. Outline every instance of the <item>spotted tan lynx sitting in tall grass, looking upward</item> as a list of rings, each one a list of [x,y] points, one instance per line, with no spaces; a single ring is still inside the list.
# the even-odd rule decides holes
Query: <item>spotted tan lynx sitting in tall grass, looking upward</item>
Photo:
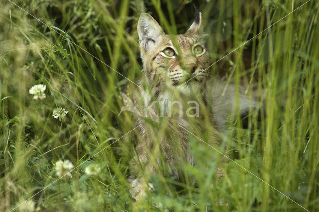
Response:
[[[166,35],[151,15],[140,15],[137,30],[143,77],[133,102],[144,117],[136,115],[140,136],[134,170],[128,179],[136,200],[153,189],[150,175],[161,172],[182,180],[183,164],[196,165],[190,154],[187,130],[210,131],[210,142],[218,143],[219,133],[226,130],[227,118],[237,111],[243,114],[255,105],[245,98],[242,88],[211,77],[201,22],[201,13],[196,11],[186,33]],[[188,110],[186,115],[184,108],[189,109],[189,101],[193,101],[196,111]],[[146,102],[152,103],[147,110]]]

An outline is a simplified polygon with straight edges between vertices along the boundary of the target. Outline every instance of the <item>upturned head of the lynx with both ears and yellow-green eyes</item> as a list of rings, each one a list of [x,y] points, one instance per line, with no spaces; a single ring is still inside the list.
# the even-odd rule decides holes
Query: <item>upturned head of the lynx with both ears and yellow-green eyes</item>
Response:
[[[141,58],[148,84],[160,90],[183,93],[196,90],[209,79],[209,56],[201,32],[201,13],[185,34],[166,35],[160,25],[143,13],[138,23]]]

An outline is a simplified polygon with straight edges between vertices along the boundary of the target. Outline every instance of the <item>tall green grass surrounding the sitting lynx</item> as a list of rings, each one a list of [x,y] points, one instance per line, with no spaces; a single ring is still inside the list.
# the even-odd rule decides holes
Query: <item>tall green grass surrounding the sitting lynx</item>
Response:
[[[191,1],[13,2],[51,28],[1,1],[0,211],[10,211],[29,198],[40,211],[305,211],[301,206],[319,210],[317,0],[211,67],[213,74],[243,82],[247,95],[252,94],[252,84],[259,91],[264,88],[259,119],[254,112],[246,128],[240,120],[231,122],[221,149],[301,206],[191,135],[198,165],[183,169],[197,185],[182,184],[180,193],[173,179],[151,176],[156,191],[141,205],[131,198],[126,179],[138,132],[130,132],[135,127],[132,114],[118,113],[122,92],[137,89],[123,76],[133,82],[141,76],[137,20],[141,12],[148,12],[167,32],[183,33],[194,18]],[[304,2],[196,1],[212,62]],[[36,84],[47,86],[45,99],[32,99],[29,89]],[[61,122],[52,117],[60,106],[69,111]],[[207,141],[208,135],[197,136]],[[50,185],[58,179],[53,165],[58,160],[81,165],[72,178]],[[89,164],[98,164],[100,173],[85,174]],[[224,173],[221,179],[217,168]],[[163,207],[157,207],[159,203]]]

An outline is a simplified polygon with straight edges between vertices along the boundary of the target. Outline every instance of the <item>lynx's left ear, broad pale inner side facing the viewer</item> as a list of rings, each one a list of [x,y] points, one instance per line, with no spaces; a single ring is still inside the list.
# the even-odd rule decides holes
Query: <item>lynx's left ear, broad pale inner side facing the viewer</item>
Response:
[[[159,41],[164,32],[158,22],[147,13],[141,13],[138,22],[139,45],[145,52],[152,49]]]

